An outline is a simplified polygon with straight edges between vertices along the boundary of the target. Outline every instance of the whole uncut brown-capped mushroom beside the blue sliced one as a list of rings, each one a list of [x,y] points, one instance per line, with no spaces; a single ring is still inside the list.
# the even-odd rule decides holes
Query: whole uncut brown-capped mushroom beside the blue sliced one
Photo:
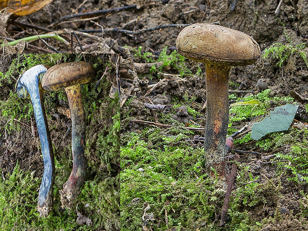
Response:
[[[80,84],[89,82],[94,74],[92,65],[79,61],[55,65],[48,69],[42,79],[45,90],[65,88],[70,104],[73,170],[60,192],[62,206],[67,208],[72,207],[73,200],[78,196],[86,172],[86,158],[83,154],[85,122]]]

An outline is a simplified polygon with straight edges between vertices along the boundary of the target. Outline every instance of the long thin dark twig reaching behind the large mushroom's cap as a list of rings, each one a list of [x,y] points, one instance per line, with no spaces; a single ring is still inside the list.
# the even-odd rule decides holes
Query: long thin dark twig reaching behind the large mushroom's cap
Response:
[[[220,22],[213,22],[212,24],[219,24]],[[191,24],[167,24],[167,25],[159,25],[159,26],[154,26],[152,28],[147,28],[147,29],[143,29],[143,30],[124,30],[124,29],[120,29],[120,28],[105,28],[104,32],[118,32],[118,33],[123,33],[123,34],[127,34],[127,35],[138,35],[138,34],[142,34],[145,32],[149,32],[149,31],[154,31],[154,30],[159,30],[159,29],[165,29],[165,28],[181,28],[181,27],[186,27],[189,26]],[[86,32],[86,33],[99,33],[101,32],[101,29],[86,29],[86,30],[78,30],[80,32]]]

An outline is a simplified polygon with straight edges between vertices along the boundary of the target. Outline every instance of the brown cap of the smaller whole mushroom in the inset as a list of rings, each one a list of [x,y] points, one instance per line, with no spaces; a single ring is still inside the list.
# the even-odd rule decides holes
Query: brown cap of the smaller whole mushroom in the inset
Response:
[[[79,61],[55,65],[47,70],[42,87],[45,90],[58,90],[68,86],[87,83],[95,75],[91,64]]]

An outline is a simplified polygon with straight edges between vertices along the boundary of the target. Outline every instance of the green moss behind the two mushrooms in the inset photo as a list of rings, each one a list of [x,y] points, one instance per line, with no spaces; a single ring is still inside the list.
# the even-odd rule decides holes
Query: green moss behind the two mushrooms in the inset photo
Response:
[[[26,58],[25,58],[26,57]],[[39,58],[38,58],[39,57]],[[46,58],[43,62],[41,56],[16,56],[16,62],[12,62],[11,66],[19,65],[20,62],[26,62],[26,65],[20,65],[26,70],[31,65],[45,64],[55,65],[58,62],[75,61],[83,59],[83,56],[76,55],[65,56],[42,56]],[[49,118],[50,130],[54,136],[53,149],[55,154],[56,176],[54,184],[54,209],[47,218],[39,218],[36,211],[37,188],[41,179],[33,178],[33,173],[23,171],[16,167],[14,176],[17,178],[16,183],[13,178],[6,181],[0,180],[0,190],[8,188],[9,184],[14,184],[10,192],[1,193],[3,208],[9,208],[10,213],[2,213],[0,216],[0,224],[3,230],[28,231],[28,230],[44,230],[44,231],[118,231],[120,227],[120,195],[119,195],[119,150],[120,150],[120,112],[119,112],[119,97],[110,99],[108,92],[111,83],[106,78],[103,78],[95,88],[96,81],[102,76],[105,67],[110,65],[109,56],[86,56],[87,62],[95,63],[97,75],[89,84],[85,84],[82,89],[83,102],[86,115],[86,146],[84,153],[87,157],[87,175],[84,185],[81,188],[79,197],[76,199],[75,209],[64,210],[61,208],[59,191],[63,189],[63,184],[68,179],[72,171],[72,148],[68,135],[62,139],[66,126],[63,123],[68,119],[61,118],[60,121],[55,120],[54,112],[59,102],[68,104],[68,99],[64,90],[56,92],[44,92],[45,108],[47,118]],[[31,65],[27,66],[27,62],[33,59]],[[27,60],[27,61],[24,61]],[[22,70],[19,70],[18,73]],[[18,74],[17,73],[17,74]],[[17,77],[17,76],[16,76]],[[11,80],[16,79],[12,77]],[[9,82],[8,78],[3,78],[2,83],[13,89],[14,82]],[[18,129],[28,130],[27,123],[33,118],[32,105],[29,98],[19,99],[14,90],[10,91],[7,98],[4,98],[0,104],[2,121],[12,118],[12,130],[17,130],[15,126],[19,125]],[[15,119],[16,118],[16,119]],[[16,121],[17,120],[17,121]],[[19,123],[18,120],[22,123]],[[2,122],[3,123],[3,122]],[[64,127],[64,128],[63,128]],[[9,127],[7,128],[7,131]],[[59,133],[61,135],[59,136]],[[61,140],[59,140],[61,137]],[[31,139],[31,138],[30,138]],[[32,177],[32,178],[31,178]],[[2,178],[1,178],[2,179]],[[20,184],[22,187],[17,187]],[[16,186],[17,185],[17,186]],[[22,197],[20,196],[22,195]],[[15,202],[13,203],[12,198]],[[90,226],[78,225],[77,210],[82,215],[89,217],[92,220]],[[1,210],[3,211],[3,210]],[[4,210],[5,211],[5,210]],[[7,210],[8,211],[8,210]],[[9,216],[9,217],[8,217]],[[8,222],[8,220],[11,220]],[[12,226],[11,226],[12,224]],[[0,229],[2,230],[2,229]]]

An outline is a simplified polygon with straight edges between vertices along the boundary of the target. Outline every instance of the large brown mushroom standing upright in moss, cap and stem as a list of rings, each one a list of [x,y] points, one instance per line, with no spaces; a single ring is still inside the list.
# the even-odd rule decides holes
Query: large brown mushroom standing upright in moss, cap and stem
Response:
[[[205,158],[208,167],[225,156],[229,122],[228,77],[231,66],[251,65],[259,46],[243,32],[208,23],[185,27],[176,40],[177,52],[206,67],[207,117]],[[223,170],[223,169],[221,169]]]

